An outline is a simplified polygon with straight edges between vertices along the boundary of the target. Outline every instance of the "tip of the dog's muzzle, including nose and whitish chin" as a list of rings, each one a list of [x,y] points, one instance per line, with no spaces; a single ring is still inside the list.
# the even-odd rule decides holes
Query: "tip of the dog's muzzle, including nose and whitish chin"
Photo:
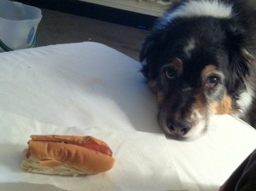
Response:
[[[158,114],[160,128],[167,137],[177,140],[195,140],[207,131],[208,118],[207,113],[202,115],[194,111],[189,117],[178,119],[177,117],[168,117],[164,110]]]

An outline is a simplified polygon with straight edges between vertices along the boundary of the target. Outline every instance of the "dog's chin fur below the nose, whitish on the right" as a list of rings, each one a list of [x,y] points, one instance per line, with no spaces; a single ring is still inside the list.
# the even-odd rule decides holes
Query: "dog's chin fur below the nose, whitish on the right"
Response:
[[[173,134],[172,131],[167,127],[166,123],[160,122],[160,127],[166,134],[167,138],[176,139],[179,141],[194,141],[203,136],[207,131],[207,120],[200,120],[197,124],[193,125],[191,130],[183,136]]]

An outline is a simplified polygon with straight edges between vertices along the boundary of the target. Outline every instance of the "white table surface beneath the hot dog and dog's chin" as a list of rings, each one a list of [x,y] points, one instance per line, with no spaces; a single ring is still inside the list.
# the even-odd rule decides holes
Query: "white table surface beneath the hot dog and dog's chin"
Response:
[[[4,143],[8,142],[8,136],[15,137],[9,144],[15,149],[15,156],[19,157],[20,149],[26,147],[28,136],[32,133],[64,132],[77,135],[88,130],[111,143],[116,154],[116,169],[110,171],[109,175],[114,178],[121,173],[118,170],[124,167],[122,158],[125,153],[121,151],[131,142],[142,145],[140,148],[133,145],[130,154],[134,154],[134,159],[143,159],[133,161],[138,163],[137,168],[144,164],[139,172],[142,173],[140,178],[132,179],[130,176],[122,180],[120,177],[117,183],[106,181],[103,175],[99,176],[102,186],[106,186],[105,183],[114,185],[109,190],[150,190],[146,186],[150,183],[155,185],[155,188],[150,187],[152,190],[218,190],[241,161],[256,148],[256,131],[239,119],[224,115],[212,117],[207,134],[198,140],[179,142],[166,139],[156,121],[155,98],[144,84],[140,67],[139,62],[100,43],[60,44],[1,53],[0,128],[4,133],[0,136],[5,141],[0,141],[0,152],[1,148],[4,150],[7,147],[7,143]],[[50,128],[42,130],[45,126]],[[20,127],[24,130],[20,130]],[[125,145],[122,142],[130,143]],[[154,157],[158,153],[159,158]],[[26,184],[25,179],[21,181],[18,178],[20,174],[14,175],[14,170],[9,170],[4,164],[9,161],[7,157],[1,157],[0,169],[2,165],[3,169],[6,167],[6,171],[9,171],[9,176],[16,176],[14,182],[20,183],[20,189],[38,185],[36,181],[33,182],[35,184]],[[131,168],[132,171],[134,169]],[[133,172],[128,170],[129,165],[125,171],[132,175]],[[19,173],[25,175],[21,171]],[[170,178],[165,179],[165,174]],[[15,190],[17,184],[7,181],[11,177],[1,177],[4,175],[0,176],[1,190]],[[96,179],[86,178],[90,183]],[[125,181],[131,184],[125,184]],[[65,188],[63,185],[62,188],[49,190]],[[67,190],[72,189],[67,185]]]

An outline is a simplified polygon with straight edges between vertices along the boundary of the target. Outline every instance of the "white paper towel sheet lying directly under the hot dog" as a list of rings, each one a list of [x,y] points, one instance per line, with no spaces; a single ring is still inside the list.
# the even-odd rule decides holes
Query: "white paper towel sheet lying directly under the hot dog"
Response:
[[[64,190],[180,190],[177,171],[166,138],[159,134],[106,130],[103,127],[57,127],[40,124],[13,113],[0,111],[0,188],[54,185]],[[32,134],[96,136],[108,142],[116,159],[111,171],[85,177],[58,177],[27,173],[20,169],[22,151]],[[16,183],[20,182],[20,186]],[[26,183],[32,183],[27,184]],[[33,185],[34,184],[34,185]],[[38,188],[40,185],[38,185]],[[48,186],[49,187],[49,186]],[[53,188],[53,187],[49,187]],[[10,189],[9,189],[10,190]],[[49,189],[50,190],[50,189]]]

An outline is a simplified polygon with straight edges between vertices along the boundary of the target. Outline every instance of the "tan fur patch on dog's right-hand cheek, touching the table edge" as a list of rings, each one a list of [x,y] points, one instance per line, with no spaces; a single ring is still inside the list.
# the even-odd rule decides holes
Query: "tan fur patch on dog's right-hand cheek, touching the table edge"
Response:
[[[214,101],[209,105],[209,109],[214,114],[231,114],[234,113],[232,108],[232,99],[230,96],[224,96],[222,101]]]

